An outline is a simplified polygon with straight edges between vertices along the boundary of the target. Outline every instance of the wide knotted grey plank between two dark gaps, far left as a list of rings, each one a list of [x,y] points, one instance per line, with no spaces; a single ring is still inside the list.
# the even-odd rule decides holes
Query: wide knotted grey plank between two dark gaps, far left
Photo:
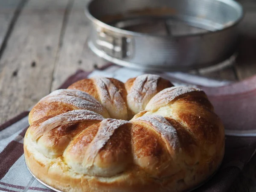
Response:
[[[36,3],[41,11],[36,9]],[[44,3],[43,3],[44,2]],[[0,123],[35,105],[52,82],[64,11],[47,9],[52,0],[30,0],[20,14],[0,65]],[[55,0],[60,8],[68,0]]]

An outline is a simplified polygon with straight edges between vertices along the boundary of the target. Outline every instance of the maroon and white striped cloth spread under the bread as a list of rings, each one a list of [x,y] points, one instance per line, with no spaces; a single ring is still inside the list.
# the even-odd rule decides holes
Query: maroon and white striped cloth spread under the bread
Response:
[[[59,88],[67,88],[73,82],[91,76],[107,76],[126,81],[146,72],[133,71],[113,65],[93,72],[77,71]],[[218,82],[208,79],[209,87],[202,86],[200,77],[190,84],[186,74],[161,73],[176,85],[193,85],[203,89],[225,125],[225,156],[220,169],[213,177],[195,189],[195,192],[227,192],[256,150],[256,76],[241,82]],[[191,78],[191,76],[190,76]],[[184,79],[184,80],[183,80]],[[218,87],[220,86],[220,87]],[[0,125],[0,190],[2,191],[52,191],[43,186],[26,169],[23,157],[23,138],[28,128],[28,111]],[[250,136],[250,137],[249,137]]]

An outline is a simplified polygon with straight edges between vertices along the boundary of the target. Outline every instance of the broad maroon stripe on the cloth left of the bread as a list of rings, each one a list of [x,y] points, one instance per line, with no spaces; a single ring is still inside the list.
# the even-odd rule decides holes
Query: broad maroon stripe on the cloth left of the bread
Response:
[[[2,179],[12,165],[23,154],[23,144],[17,141],[11,141],[0,153],[0,179]]]

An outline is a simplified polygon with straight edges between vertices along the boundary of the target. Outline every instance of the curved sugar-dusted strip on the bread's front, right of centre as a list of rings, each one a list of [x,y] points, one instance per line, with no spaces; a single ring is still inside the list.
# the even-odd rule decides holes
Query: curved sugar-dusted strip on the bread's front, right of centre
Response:
[[[169,145],[174,150],[180,148],[180,142],[177,136],[176,129],[163,116],[147,115],[134,119],[134,121],[137,120],[149,122],[152,125],[152,128],[154,128],[154,130],[160,133],[163,139],[165,140],[165,143],[168,144],[167,148]],[[168,148],[168,150],[171,153],[171,149]]]

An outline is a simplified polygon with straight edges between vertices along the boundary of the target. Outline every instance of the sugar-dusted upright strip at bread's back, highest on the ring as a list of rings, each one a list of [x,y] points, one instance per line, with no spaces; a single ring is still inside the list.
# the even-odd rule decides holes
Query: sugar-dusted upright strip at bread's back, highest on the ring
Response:
[[[128,106],[134,113],[145,109],[148,101],[157,93],[158,75],[145,74],[138,76],[127,95]]]

